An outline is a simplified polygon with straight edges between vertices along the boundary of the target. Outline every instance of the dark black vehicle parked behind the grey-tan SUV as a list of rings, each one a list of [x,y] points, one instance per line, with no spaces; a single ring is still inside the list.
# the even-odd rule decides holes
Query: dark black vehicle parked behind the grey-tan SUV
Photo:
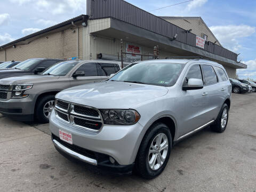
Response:
[[[15,65],[12,68],[0,70],[0,79],[6,78],[6,77],[21,76],[21,75],[35,75],[60,61],[64,61],[64,60],[63,59],[43,59],[43,58],[28,59],[20,62],[18,65]]]

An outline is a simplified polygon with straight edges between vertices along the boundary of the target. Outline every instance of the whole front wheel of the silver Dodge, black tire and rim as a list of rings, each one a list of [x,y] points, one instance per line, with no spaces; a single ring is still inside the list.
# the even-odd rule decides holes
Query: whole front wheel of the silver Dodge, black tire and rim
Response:
[[[161,174],[169,160],[172,136],[163,123],[153,124],[145,134],[137,154],[135,168],[145,179]]]

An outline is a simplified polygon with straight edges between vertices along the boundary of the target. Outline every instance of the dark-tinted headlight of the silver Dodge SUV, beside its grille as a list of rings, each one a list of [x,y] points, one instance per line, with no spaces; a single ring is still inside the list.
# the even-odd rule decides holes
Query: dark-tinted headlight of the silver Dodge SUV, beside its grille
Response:
[[[108,125],[132,125],[140,119],[140,114],[133,109],[101,109],[101,114]]]

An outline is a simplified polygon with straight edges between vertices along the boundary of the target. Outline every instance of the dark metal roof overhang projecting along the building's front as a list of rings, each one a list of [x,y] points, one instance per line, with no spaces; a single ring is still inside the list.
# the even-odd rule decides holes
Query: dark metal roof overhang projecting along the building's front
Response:
[[[236,69],[247,68],[247,66],[241,62],[221,57],[185,43],[171,41],[169,37],[156,34],[152,31],[142,29],[114,18],[110,18],[110,28],[93,31],[91,34],[123,39],[123,41],[137,43],[144,46],[153,47],[158,45],[161,50],[181,56],[201,56]]]

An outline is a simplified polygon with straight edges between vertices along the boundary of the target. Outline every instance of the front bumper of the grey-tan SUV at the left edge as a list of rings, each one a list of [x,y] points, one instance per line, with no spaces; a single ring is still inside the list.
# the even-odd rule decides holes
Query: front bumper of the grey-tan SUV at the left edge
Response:
[[[20,99],[0,100],[0,113],[19,121],[33,121],[34,100],[29,97]]]

